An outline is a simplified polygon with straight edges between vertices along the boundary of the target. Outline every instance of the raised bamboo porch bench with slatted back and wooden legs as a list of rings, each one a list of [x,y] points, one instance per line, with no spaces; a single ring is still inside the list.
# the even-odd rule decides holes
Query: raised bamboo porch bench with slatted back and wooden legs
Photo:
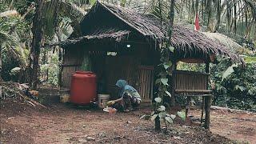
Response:
[[[208,90],[210,74],[185,70],[174,70],[174,96],[186,96],[186,117],[190,110],[190,101],[193,97],[202,97],[201,123],[205,111],[205,127],[210,125],[210,103],[213,97],[212,90]]]

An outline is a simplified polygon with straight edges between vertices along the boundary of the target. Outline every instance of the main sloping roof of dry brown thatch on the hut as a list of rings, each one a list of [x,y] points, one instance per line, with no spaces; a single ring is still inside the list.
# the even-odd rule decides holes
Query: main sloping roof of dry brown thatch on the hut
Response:
[[[161,43],[167,34],[167,25],[162,22],[159,18],[153,15],[139,14],[133,10],[126,9],[120,6],[114,6],[110,4],[105,4],[102,2],[96,2],[96,4],[91,8],[90,12],[86,15],[89,17],[90,14],[97,13],[98,11],[106,10],[113,14],[115,17],[124,22],[127,26],[130,26],[132,30],[138,31],[145,38],[153,39],[156,43]],[[85,17],[85,18],[86,18]],[[109,34],[108,37],[114,37],[115,33]],[[97,36],[82,36],[82,38],[77,38],[77,40],[98,38]],[[212,39],[207,38],[205,34],[201,32],[191,30],[184,26],[174,25],[173,35],[171,37],[171,45],[175,47],[178,53],[194,53],[194,51],[201,52],[202,54],[222,54],[230,57],[236,62],[243,62],[243,59],[234,54],[230,50],[226,49],[224,45],[219,42],[214,42]]]

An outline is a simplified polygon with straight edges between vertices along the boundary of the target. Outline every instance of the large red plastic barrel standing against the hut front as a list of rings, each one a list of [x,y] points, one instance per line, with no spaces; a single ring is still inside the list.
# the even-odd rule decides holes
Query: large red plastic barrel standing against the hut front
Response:
[[[70,85],[70,102],[89,104],[97,95],[96,74],[90,71],[76,71]]]

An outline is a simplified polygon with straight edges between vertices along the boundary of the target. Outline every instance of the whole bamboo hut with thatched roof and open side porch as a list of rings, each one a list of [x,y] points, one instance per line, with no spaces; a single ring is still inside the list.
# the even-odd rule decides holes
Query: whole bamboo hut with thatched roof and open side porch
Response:
[[[98,76],[103,93],[114,95],[118,79],[125,79],[150,103],[154,95],[154,69],[159,64],[162,40],[166,38],[166,24],[153,15],[138,14],[123,7],[96,2],[65,42],[58,43],[64,50],[62,87],[70,87],[71,75],[81,70],[85,58],[90,59],[91,70]],[[183,26],[175,26],[171,45],[173,63],[204,62],[206,73],[209,63],[222,54],[242,62],[242,58],[225,46],[207,38],[205,34]],[[208,74],[174,69],[172,94],[210,94],[207,90]]]

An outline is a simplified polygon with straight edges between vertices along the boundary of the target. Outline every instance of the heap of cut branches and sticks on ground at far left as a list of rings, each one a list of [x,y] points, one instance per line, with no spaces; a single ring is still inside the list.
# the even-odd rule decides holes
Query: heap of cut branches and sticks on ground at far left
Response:
[[[29,86],[18,82],[0,82],[0,100],[3,101],[5,99],[20,99],[28,105],[46,108],[46,106],[37,102],[38,91],[30,90]]]

